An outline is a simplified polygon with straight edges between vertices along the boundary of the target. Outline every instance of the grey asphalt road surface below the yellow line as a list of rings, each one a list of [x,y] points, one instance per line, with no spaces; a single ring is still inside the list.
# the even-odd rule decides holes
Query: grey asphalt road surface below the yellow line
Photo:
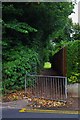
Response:
[[[2,109],[2,118],[79,118],[78,114],[23,112],[19,109]]]

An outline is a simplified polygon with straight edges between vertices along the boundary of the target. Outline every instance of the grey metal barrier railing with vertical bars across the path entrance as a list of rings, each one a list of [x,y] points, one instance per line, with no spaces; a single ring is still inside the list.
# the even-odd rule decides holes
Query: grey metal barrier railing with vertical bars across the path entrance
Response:
[[[25,75],[25,94],[30,97],[65,100],[67,78],[62,76]]]

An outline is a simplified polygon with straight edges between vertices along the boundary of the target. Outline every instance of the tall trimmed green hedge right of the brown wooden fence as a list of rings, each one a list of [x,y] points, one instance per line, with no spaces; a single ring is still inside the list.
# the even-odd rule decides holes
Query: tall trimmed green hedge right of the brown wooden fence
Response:
[[[69,42],[67,46],[67,77],[69,82],[80,82],[80,41]]]

